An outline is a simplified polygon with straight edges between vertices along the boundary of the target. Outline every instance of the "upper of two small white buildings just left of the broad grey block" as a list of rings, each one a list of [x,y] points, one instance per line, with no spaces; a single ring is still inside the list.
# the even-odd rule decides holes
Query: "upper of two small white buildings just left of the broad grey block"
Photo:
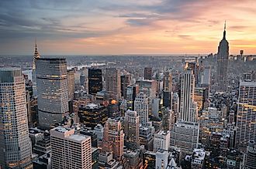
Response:
[[[160,130],[154,134],[154,152],[168,150],[170,146],[170,131]]]

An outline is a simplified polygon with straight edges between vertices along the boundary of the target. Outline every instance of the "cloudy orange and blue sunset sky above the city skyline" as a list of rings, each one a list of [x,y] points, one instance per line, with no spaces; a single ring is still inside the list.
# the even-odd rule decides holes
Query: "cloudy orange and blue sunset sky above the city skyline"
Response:
[[[255,0],[1,0],[0,55],[256,54]]]

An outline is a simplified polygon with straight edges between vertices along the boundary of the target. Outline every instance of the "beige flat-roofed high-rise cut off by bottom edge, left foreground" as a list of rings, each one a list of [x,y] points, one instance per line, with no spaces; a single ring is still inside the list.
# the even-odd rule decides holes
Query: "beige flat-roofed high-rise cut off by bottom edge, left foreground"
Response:
[[[56,127],[50,130],[50,143],[53,169],[92,168],[91,137]]]

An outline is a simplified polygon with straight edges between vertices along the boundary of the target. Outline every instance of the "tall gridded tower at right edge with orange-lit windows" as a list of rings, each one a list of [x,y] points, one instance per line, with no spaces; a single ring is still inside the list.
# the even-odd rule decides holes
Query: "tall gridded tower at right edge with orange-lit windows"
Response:
[[[256,82],[240,81],[237,106],[235,147],[245,150],[249,140],[256,140]]]

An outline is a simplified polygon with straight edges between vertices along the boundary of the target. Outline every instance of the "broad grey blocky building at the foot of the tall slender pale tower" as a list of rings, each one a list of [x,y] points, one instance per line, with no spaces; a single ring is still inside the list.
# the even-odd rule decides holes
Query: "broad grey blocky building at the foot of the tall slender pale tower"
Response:
[[[199,123],[178,121],[171,130],[171,146],[179,147],[183,154],[192,154],[199,143]]]

